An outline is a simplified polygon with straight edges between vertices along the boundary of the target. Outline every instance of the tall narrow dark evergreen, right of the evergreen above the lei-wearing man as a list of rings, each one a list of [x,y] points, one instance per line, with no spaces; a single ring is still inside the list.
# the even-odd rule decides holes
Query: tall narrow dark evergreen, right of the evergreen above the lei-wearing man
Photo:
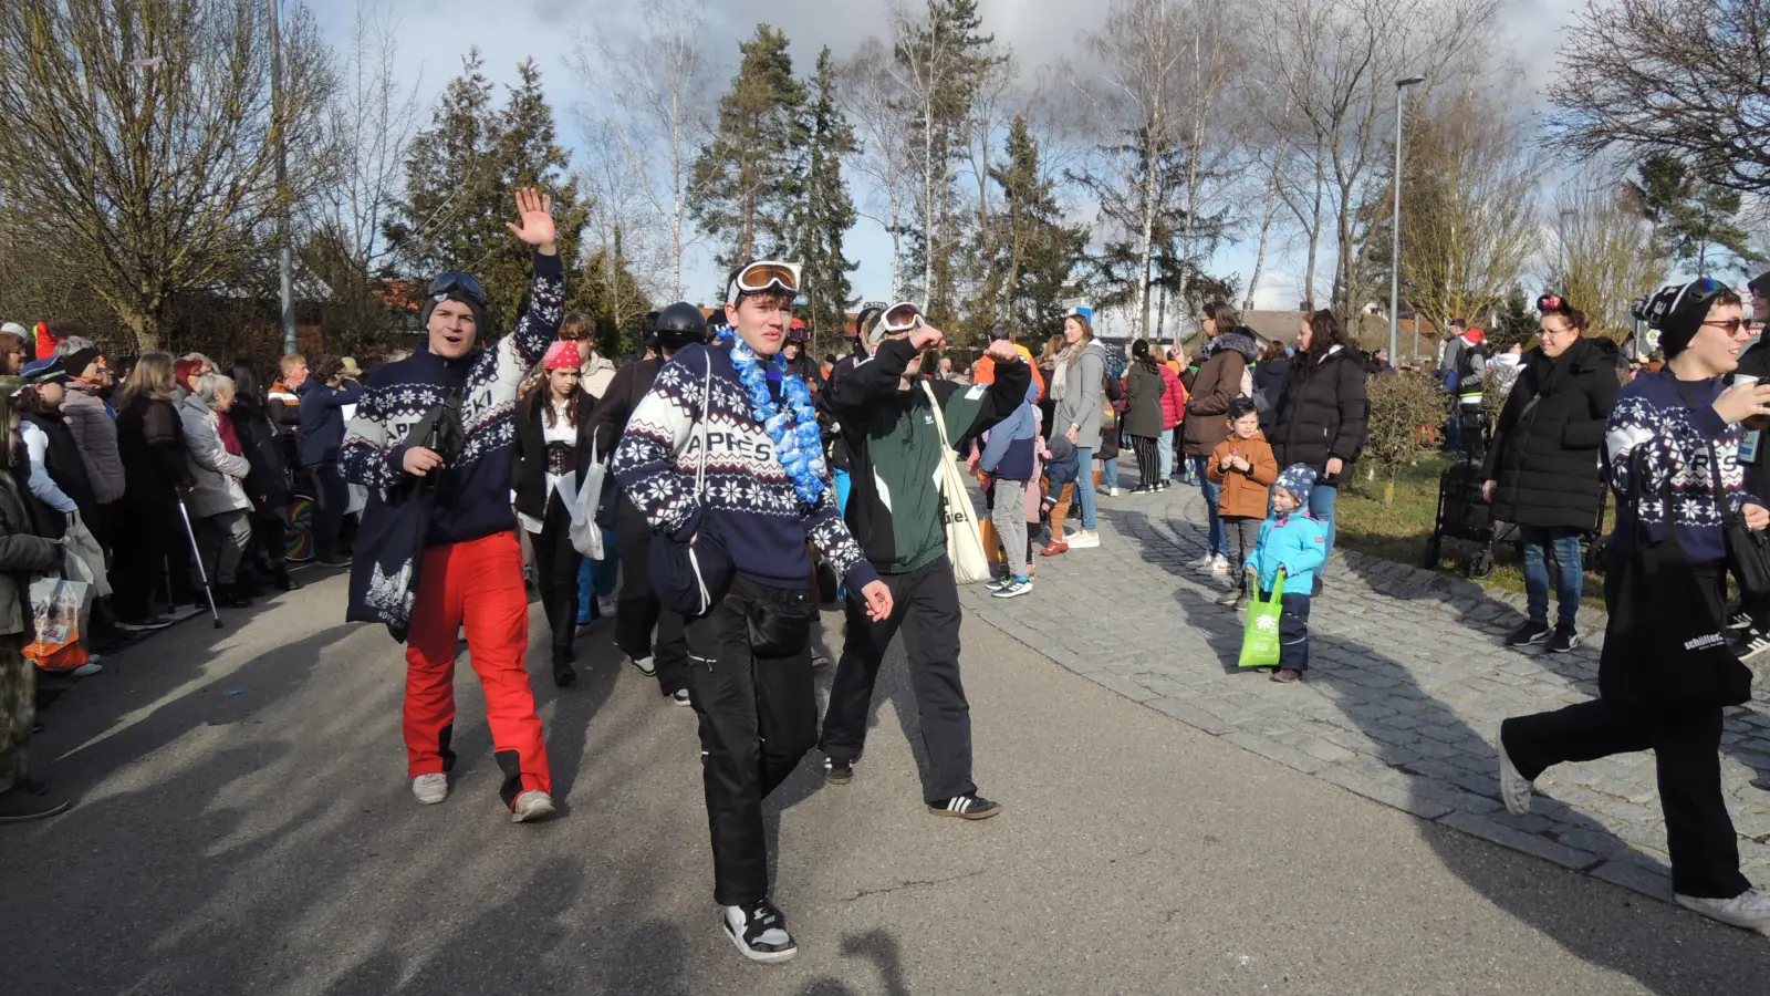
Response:
[[[857,264],[843,255],[843,236],[855,223],[855,202],[843,181],[843,156],[851,154],[855,129],[835,103],[835,67],[830,48],[818,55],[811,106],[805,112],[807,149],[802,163],[804,198],[795,206],[796,259],[805,266],[805,324],[812,335],[841,337],[853,301],[848,275]]]

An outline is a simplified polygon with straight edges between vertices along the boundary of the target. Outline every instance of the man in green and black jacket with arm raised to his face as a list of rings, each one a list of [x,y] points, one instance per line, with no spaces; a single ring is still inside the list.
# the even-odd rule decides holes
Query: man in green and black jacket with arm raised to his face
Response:
[[[873,356],[825,392],[848,443],[848,528],[885,578],[896,608],[887,619],[869,620],[862,604],[848,601],[848,636],[823,716],[825,769],[837,785],[853,778],[880,663],[901,629],[927,746],[927,808],[988,819],[1002,806],[972,783],[972,711],[959,682],[959,588],[947,560],[935,418],[945,422],[952,445],[981,434],[1027,401],[1032,367],[1012,342],[997,340],[986,353],[995,362],[991,385],[924,381],[922,354],[938,349],[945,335],[924,324],[915,305],[889,308],[869,338]]]

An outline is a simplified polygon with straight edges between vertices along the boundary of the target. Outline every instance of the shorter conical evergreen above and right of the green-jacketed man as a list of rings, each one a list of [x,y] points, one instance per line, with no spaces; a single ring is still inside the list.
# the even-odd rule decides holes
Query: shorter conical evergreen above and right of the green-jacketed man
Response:
[[[1064,225],[1055,184],[1039,174],[1039,144],[1023,117],[1009,126],[1007,161],[989,170],[1002,188],[1002,236],[997,239],[995,287],[979,314],[1009,319],[1025,331],[1057,328],[1064,300],[1076,294],[1074,271],[1089,243],[1087,229]],[[989,321],[982,323],[984,326]]]

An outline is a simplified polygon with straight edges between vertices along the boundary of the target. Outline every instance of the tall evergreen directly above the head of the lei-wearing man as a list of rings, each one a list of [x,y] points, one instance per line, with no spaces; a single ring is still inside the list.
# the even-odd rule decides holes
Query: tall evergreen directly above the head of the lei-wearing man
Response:
[[[719,128],[694,163],[690,204],[701,230],[724,243],[722,266],[784,255],[793,248],[789,207],[804,195],[795,168],[805,147],[805,87],[793,78],[788,39],[756,25],[738,43],[743,62],[719,99]],[[720,289],[724,291],[724,289]]]

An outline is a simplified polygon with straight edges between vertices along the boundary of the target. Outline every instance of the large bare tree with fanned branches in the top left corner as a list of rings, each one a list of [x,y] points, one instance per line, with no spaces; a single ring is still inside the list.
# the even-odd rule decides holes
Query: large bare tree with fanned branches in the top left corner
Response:
[[[14,234],[158,347],[175,294],[228,285],[281,200],[281,133],[319,145],[331,58],[285,14],[273,108],[266,7],[232,0],[0,4],[0,204]],[[289,197],[320,174],[297,158]]]

